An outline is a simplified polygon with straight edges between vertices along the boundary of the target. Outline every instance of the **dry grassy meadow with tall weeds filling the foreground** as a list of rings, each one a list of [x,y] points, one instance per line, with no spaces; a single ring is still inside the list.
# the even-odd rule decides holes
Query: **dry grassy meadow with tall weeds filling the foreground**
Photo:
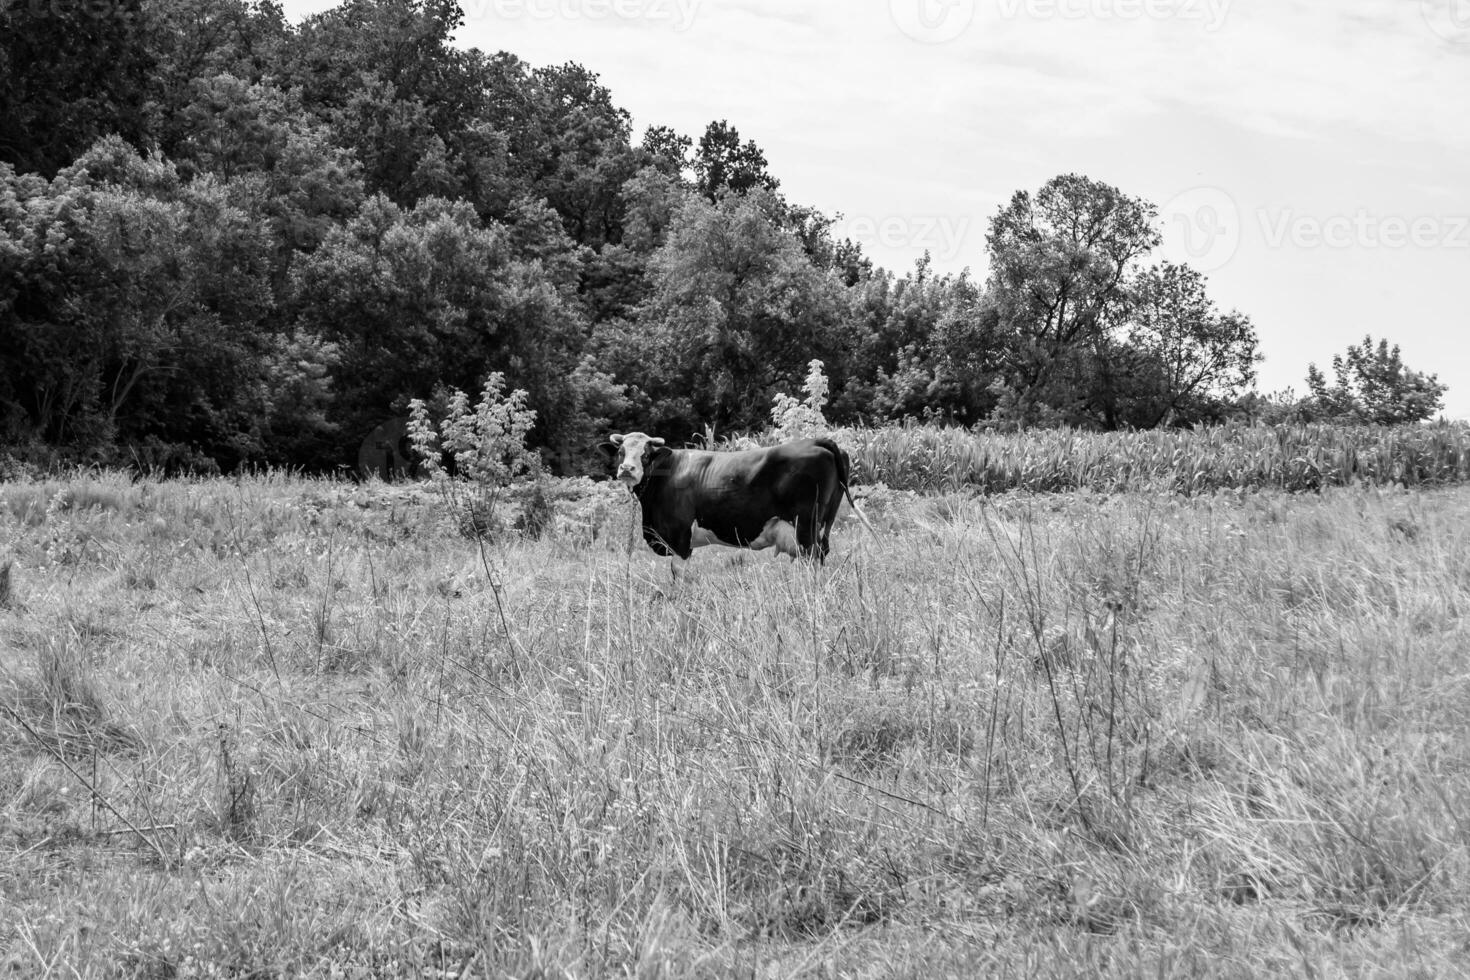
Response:
[[[1470,489],[554,497],[0,485],[0,976],[1470,964]]]

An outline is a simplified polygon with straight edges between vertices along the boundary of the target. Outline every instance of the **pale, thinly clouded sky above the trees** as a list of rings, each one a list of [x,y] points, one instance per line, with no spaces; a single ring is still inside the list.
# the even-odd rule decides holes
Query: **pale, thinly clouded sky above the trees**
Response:
[[[1373,334],[1470,417],[1470,0],[462,6],[460,44],[585,65],[639,135],[728,119],[895,270],[983,278],[1014,191],[1113,184],[1255,322],[1263,391]]]

